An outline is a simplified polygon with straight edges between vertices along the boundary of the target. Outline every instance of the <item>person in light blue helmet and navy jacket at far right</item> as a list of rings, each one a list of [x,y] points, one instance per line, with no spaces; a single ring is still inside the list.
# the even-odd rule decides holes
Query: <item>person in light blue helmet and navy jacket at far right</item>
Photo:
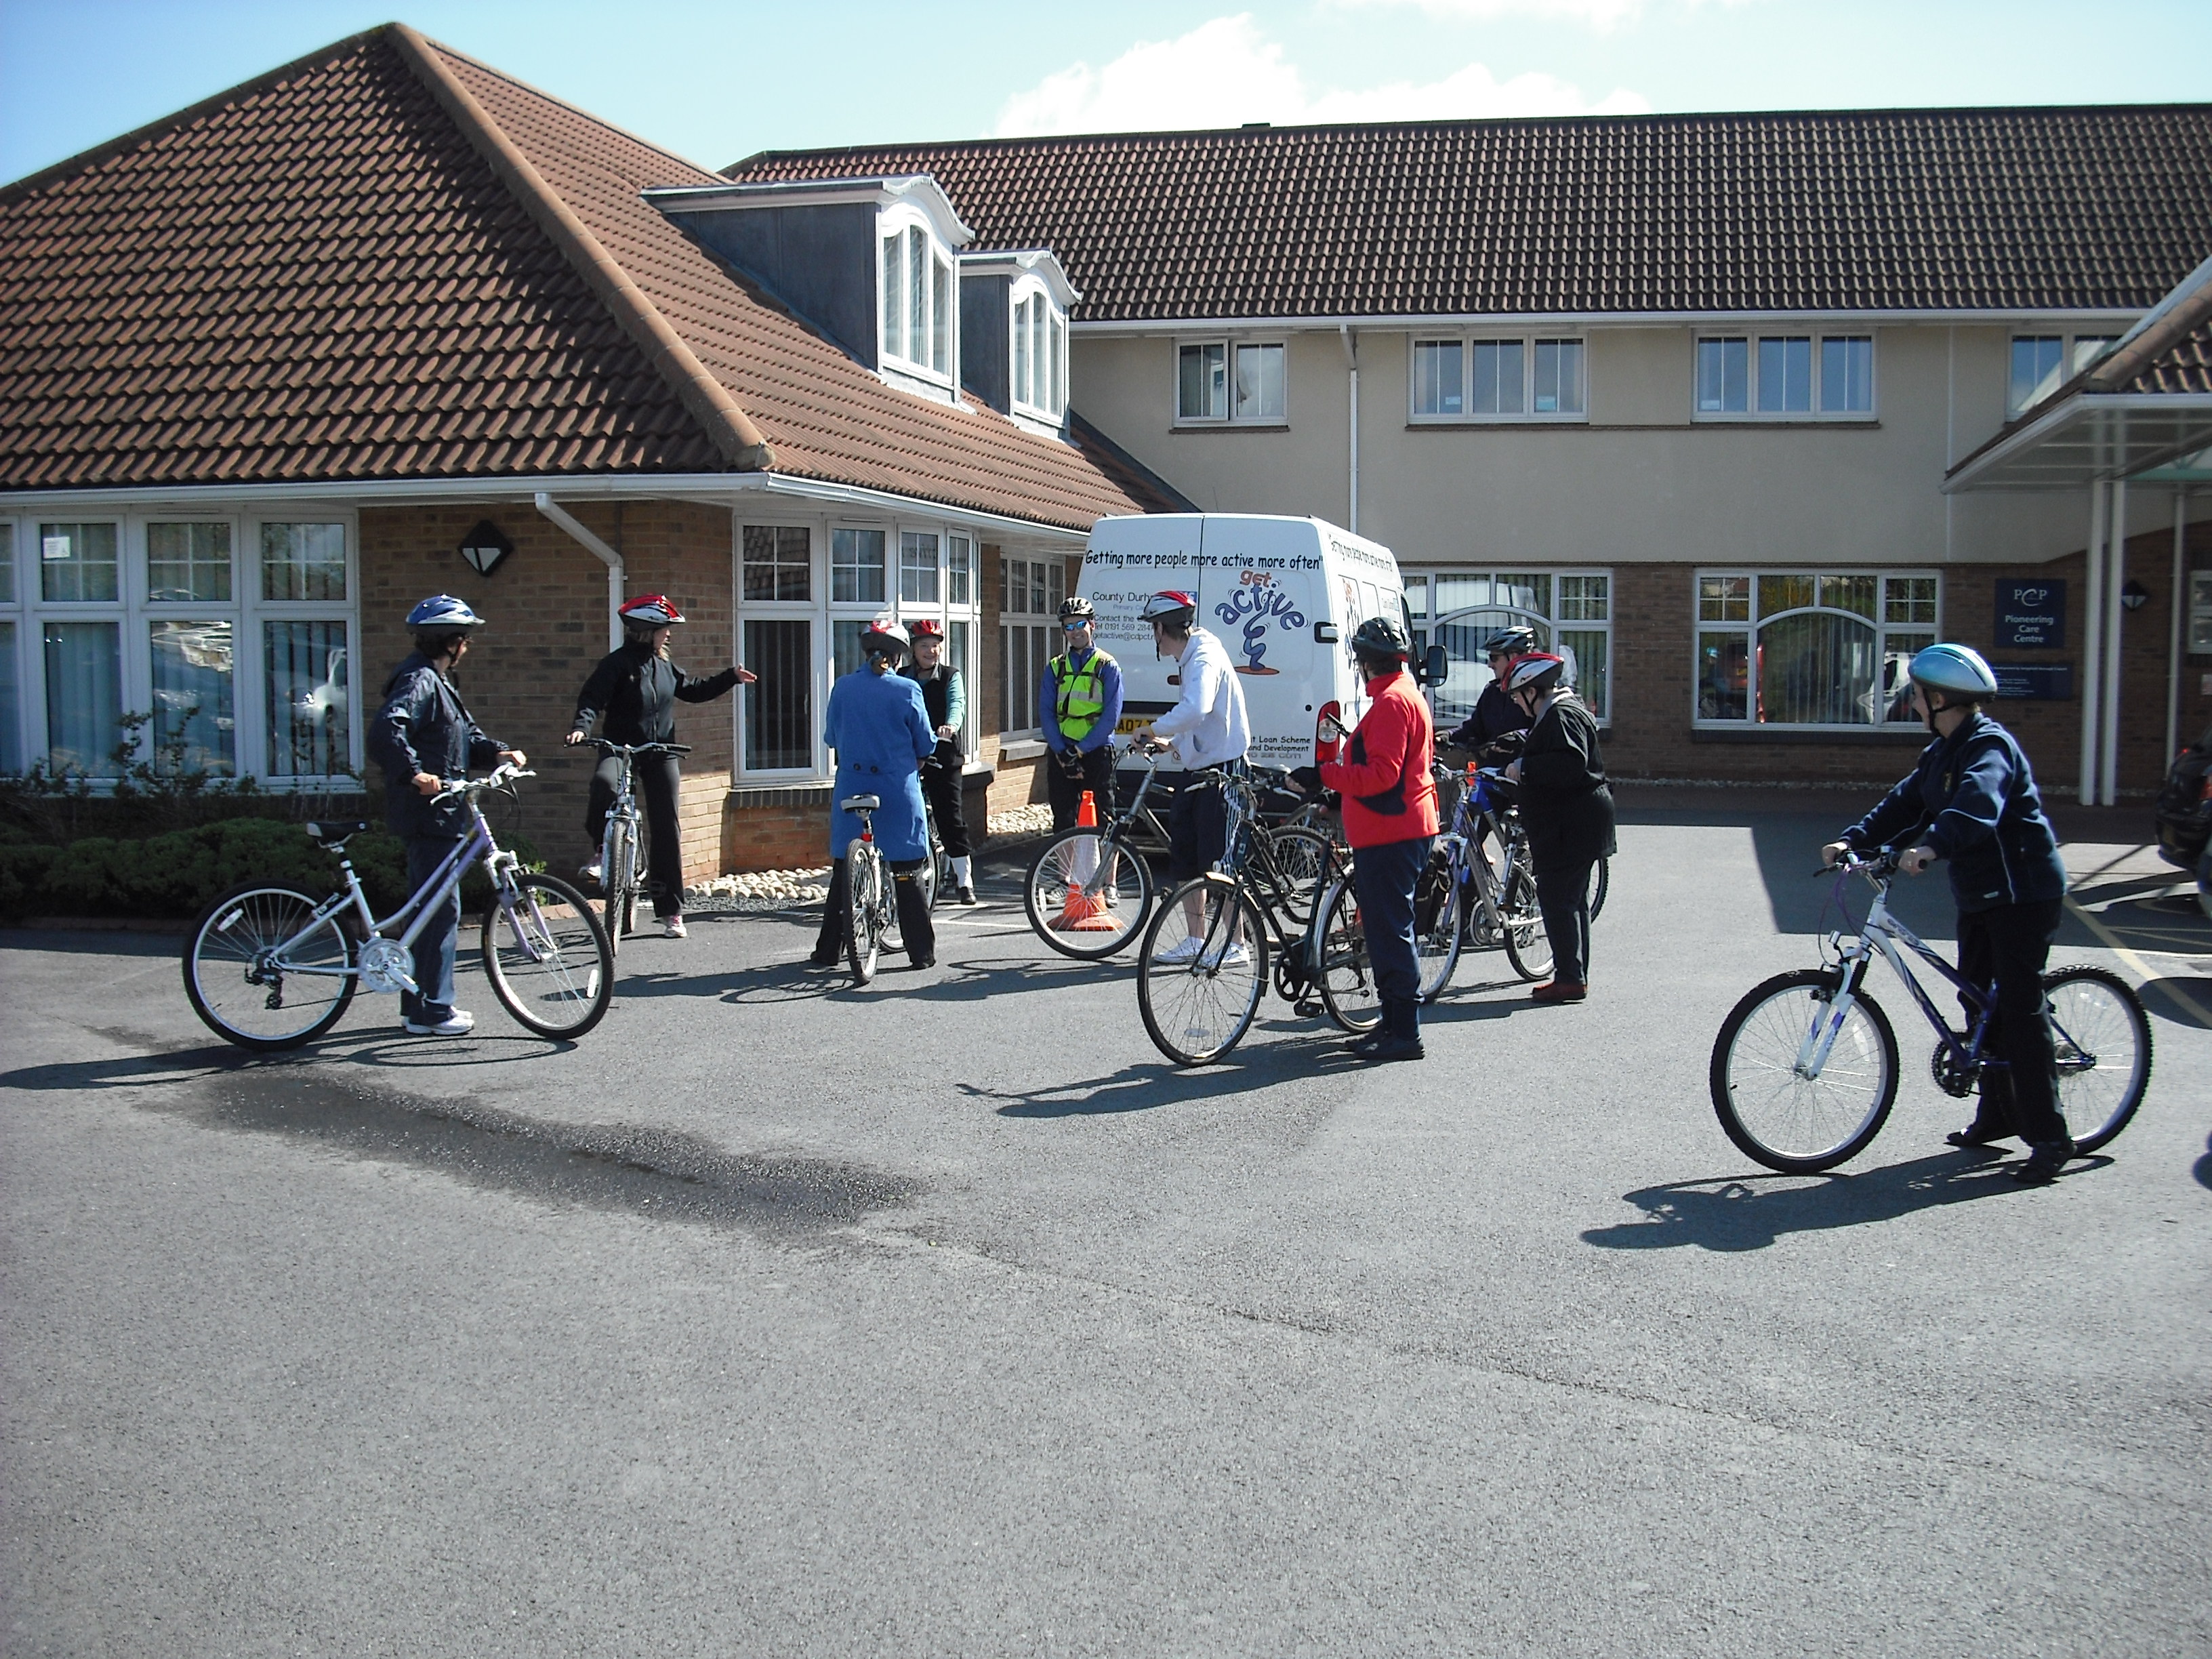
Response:
[[[1982,712],[1997,695],[1989,664],[1966,646],[1929,646],[1913,657],[1911,681],[1913,712],[1936,741],[1920,752],[1911,776],[1820,849],[1820,860],[1832,865],[1845,852],[1905,841],[1913,841],[1898,856],[1907,876],[1951,860],[1958,971],[1984,993],[1995,987],[1989,1044],[2004,1068],[1982,1073],[1973,1124],[1949,1141],[1986,1146],[2017,1135],[2028,1159],[2013,1179],[2051,1181],[2073,1157],[2044,1009],[2044,962],[2066,900],[2057,832],[2044,816],[2028,757]]]

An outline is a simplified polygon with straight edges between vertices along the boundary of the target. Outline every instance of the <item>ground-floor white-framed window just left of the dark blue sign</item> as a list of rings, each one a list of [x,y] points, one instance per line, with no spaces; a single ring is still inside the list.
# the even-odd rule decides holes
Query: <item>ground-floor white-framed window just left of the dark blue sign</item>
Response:
[[[1933,571],[1699,571],[1701,726],[1911,723],[1907,666],[1938,639]]]

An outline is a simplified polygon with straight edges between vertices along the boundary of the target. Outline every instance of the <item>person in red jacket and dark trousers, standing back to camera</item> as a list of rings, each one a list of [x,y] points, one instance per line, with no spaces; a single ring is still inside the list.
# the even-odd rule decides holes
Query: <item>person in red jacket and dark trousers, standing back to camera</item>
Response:
[[[1425,1055],[1413,887],[1436,841],[1436,779],[1429,776],[1436,726],[1405,672],[1409,655],[1405,628],[1389,617],[1369,617],[1354,630],[1352,657],[1367,681],[1367,714],[1345,743],[1345,759],[1321,763],[1321,781],[1345,796],[1352,885],[1383,998],[1383,1024],[1352,1044],[1360,1060]]]

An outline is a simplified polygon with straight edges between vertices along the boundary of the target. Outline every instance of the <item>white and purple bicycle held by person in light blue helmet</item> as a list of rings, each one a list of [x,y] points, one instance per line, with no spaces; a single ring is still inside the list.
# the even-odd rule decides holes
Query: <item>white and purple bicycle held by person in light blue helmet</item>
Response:
[[[1889,1119],[1898,1097],[1898,1040],[1889,1015],[1865,993],[1876,956],[1896,969],[1936,1029],[1929,1071],[1938,1088],[1964,1099],[1984,1071],[2004,1064],[1982,1051],[1995,993],[1966,984],[1955,967],[1889,914],[1896,869],[1893,852],[1838,860],[1838,900],[1854,874],[1874,887],[1858,936],[1845,942],[1840,931],[1829,933],[1834,962],[1776,973],[1752,987],[1714,1037],[1712,1108],[1728,1139],[1770,1170],[1832,1170],[1865,1150]],[[1966,998],[1975,1011],[1966,1031],[1953,1031],[1936,1009],[1907,951]],[[2093,1152],[2119,1135],[2143,1102],[2150,1020],[2128,982],[2101,967],[2044,973],[2044,998],[2057,1048],[2059,1113],[2075,1148]]]

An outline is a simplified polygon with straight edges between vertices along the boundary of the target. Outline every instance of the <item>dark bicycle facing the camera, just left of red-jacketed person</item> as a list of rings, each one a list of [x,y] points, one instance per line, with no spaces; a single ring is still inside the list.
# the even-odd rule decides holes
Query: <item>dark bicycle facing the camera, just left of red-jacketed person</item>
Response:
[[[1301,1018],[1325,1011],[1345,1031],[1371,1031],[1383,1009],[1367,936],[1352,874],[1329,838],[1261,823],[1250,776],[1199,776],[1228,792],[1225,849],[1214,869],[1170,891],[1144,931],[1137,1009],[1152,1044],[1179,1066],[1203,1066],[1234,1048],[1270,982],[1270,949],[1274,989]],[[1186,900],[1199,911],[1188,951],[1164,945]]]

